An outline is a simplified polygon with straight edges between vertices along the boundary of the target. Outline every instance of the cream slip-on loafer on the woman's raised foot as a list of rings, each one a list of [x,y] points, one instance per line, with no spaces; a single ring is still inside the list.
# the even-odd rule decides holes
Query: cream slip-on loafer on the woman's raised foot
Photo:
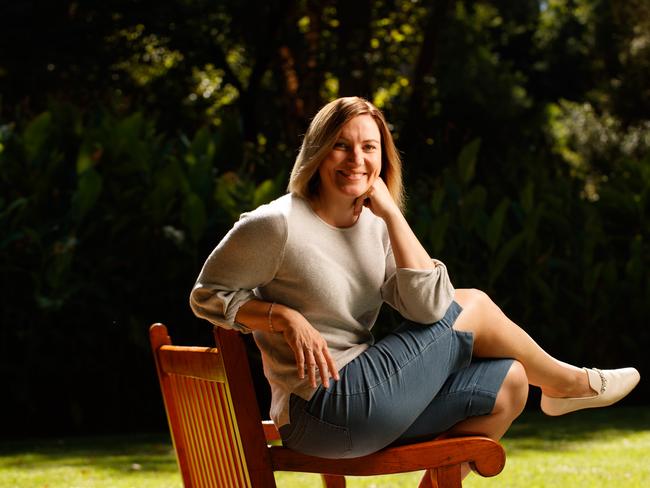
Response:
[[[584,398],[555,398],[542,393],[542,412],[557,416],[583,408],[606,407],[630,393],[641,379],[641,375],[634,368],[583,369],[589,377],[589,386],[596,394]]]

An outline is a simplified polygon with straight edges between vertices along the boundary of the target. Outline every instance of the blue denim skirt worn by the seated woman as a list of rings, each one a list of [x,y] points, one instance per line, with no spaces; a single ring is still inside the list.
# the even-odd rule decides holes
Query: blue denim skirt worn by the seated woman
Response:
[[[431,325],[405,322],[309,401],[291,395],[283,444],[313,456],[358,457],[490,413],[512,360],[473,359],[472,333],[452,328],[461,311],[452,302]]]

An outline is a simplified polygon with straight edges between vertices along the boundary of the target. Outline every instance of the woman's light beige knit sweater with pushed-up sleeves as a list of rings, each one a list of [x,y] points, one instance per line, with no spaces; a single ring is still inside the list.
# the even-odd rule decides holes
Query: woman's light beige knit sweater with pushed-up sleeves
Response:
[[[364,208],[349,228],[333,227],[302,198],[288,194],[242,214],[212,251],[190,296],[194,313],[251,332],[235,321],[253,298],[302,313],[323,335],[341,369],[373,344],[370,332],[387,302],[405,318],[431,323],[444,316],[454,289],[447,269],[396,269],[382,219]],[[271,418],[289,422],[289,395],[309,400],[314,389],[298,379],[282,334],[254,331],[271,385]]]

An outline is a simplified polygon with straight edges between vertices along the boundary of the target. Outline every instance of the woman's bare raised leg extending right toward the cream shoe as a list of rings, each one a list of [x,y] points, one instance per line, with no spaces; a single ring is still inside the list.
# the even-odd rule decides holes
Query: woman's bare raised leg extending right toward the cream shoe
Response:
[[[595,393],[583,369],[549,355],[482,291],[459,289],[455,300],[463,311],[454,328],[473,333],[477,357],[516,359],[524,366],[529,383],[541,387],[548,396],[586,397]]]

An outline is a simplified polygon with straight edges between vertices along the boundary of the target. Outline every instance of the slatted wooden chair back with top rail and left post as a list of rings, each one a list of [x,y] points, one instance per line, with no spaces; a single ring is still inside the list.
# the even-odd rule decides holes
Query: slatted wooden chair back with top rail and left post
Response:
[[[184,485],[255,486],[220,351],[173,346],[159,324],[150,334]]]

